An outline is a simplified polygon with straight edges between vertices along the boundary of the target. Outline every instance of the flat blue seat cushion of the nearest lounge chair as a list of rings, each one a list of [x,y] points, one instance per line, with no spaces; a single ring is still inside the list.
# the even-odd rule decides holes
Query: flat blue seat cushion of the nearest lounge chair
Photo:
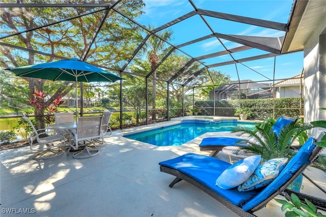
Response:
[[[255,197],[259,192],[239,192],[236,188],[225,190],[215,185],[216,178],[230,163],[202,154],[187,153],[175,159],[160,162],[159,165],[178,170],[204,184],[208,189],[224,197],[236,206],[242,205]]]

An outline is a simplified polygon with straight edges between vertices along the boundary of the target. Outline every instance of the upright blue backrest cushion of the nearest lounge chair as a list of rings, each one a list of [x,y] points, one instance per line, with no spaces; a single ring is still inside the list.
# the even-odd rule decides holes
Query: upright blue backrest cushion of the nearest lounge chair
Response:
[[[248,211],[263,200],[273,194],[276,190],[280,189],[298,169],[304,164],[309,165],[308,158],[310,157],[312,150],[315,148],[314,138],[309,138],[308,141],[297,151],[295,156],[286,164],[282,172],[274,179],[265,189],[263,189],[256,197],[248,201],[242,206],[244,211]]]

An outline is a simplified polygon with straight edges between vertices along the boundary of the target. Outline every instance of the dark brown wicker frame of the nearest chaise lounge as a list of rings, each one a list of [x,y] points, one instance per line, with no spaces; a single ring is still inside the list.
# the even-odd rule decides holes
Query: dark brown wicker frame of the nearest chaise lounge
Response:
[[[322,136],[319,136],[318,139],[321,137]],[[318,154],[321,150],[322,150],[321,147],[315,146],[314,149],[312,150],[310,157],[308,158],[308,161],[310,163],[313,162],[318,157]],[[207,157],[207,158],[212,158],[212,157]],[[295,173],[293,173],[291,178],[286,180],[286,182],[279,189],[277,189],[276,191],[272,192],[269,195],[264,195],[263,200],[258,205],[254,206],[250,210],[246,210],[246,211],[243,210],[240,206],[234,205],[233,203],[231,203],[230,201],[228,201],[227,199],[222,197],[220,194],[218,194],[216,191],[213,191],[210,188],[208,188],[205,183],[201,183],[200,181],[196,180],[195,178],[193,178],[183,172],[180,172],[177,169],[173,169],[168,166],[160,165],[160,171],[171,174],[173,176],[176,176],[176,178],[170,183],[170,185],[169,185],[170,188],[172,188],[179,181],[185,180],[188,183],[193,184],[195,187],[199,188],[200,190],[204,191],[206,194],[210,195],[212,198],[219,201],[220,203],[225,205],[227,208],[229,208],[230,210],[232,210],[239,216],[256,216],[254,214],[254,212],[257,210],[260,210],[261,208],[266,206],[266,204],[270,200],[274,199],[277,195],[284,195],[284,194],[290,194],[290,193],[295,193],[303,202],[304,202],[304,198],[306,198],[306,199],[310,200],[312,203],[314,203],[318,209],[326,211],[326,200],[317,198],[314,196],[298,193],[298,192],[292,192],[292,191],[286,189],[288,187],[288,185],[291,184],[294,181],[294,179],[296,177],[298,177],[298,175],[300,175],[307,168],[308,165],[309,165],[309,163],[303,164]],[[209,167],[209,165],[207,165],[207,167]],[[273,182],[271,182],[271,183],[273,183]],[[266,189],[268,188],[268,186],[269,185],[267,185]],[[261,191],[263,191],[263,190],[261,190]]]

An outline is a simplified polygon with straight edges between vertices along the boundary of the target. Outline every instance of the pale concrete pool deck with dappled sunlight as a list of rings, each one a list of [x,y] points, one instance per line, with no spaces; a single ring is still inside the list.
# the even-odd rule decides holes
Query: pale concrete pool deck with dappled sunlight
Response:
[[[122,137],[172,122],[114,131],[105,145],[98,146],[98,156],[90,159],[63,154],[37,162],[29,146],[2,150],[0,215],[27,216],[18,213],[24,209],[31,216],[237,216],[185,181],[169,188],[174,176],[160,172],[158,166],[188,152],[208,155],[199,150],[202,138],[233,134],[206,133],[181,146],[164,147]],[[223,153],[217,157],[228,161]],[[305,173],[326,189],[324,172],[309,167]],[[303,184],[302,192],[324,198],[307,180]],[[255,214],[284,216],[274,200]]]

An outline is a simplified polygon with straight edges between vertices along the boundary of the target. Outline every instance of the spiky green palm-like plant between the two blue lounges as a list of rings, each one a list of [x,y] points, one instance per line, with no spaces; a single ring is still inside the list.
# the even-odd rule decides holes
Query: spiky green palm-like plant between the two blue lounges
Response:
[[[270,123],[262,122],[253,129],[236,127],[232,129],[232,132],[248,134],[249,137],[255,138],[249,141],[242,140],[241,142],[246,141],[248,143],[247,146],[242,148],[261,155],[264,160],[270,160],[274,158],[291,158],[295,154],[295,149],[291,148],[291,145],[298,137],[307,133],[312,125],[304,122],[292,122],[282,128],[279,136],[274,133],[271,127]]]

